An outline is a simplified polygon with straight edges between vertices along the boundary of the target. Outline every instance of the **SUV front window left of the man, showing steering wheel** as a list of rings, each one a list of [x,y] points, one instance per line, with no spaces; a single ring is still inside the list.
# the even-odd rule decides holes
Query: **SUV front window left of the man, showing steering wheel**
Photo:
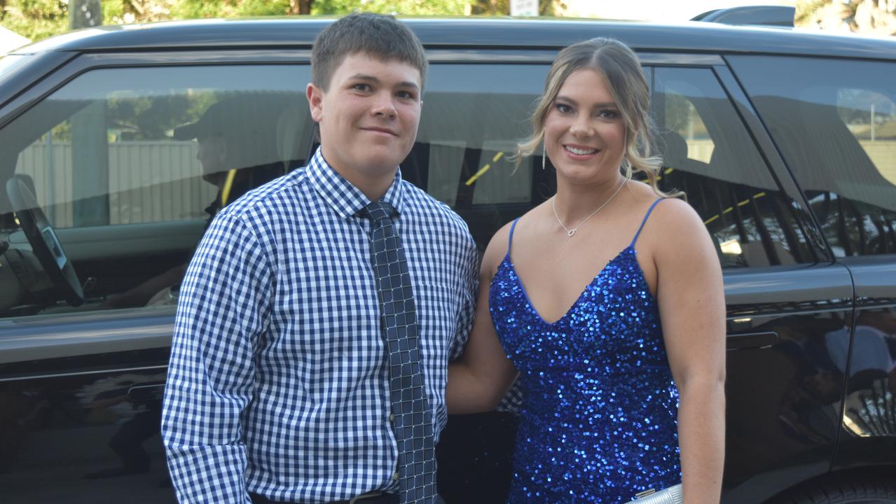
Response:
[[[77,286],[60,295],[60,283],[81,284],[79,309],[175,303],[212,216],[304,164],[308,80],[301,65],[97,69],[4,127],[0,232],[15,274],[0,275],[13,293],[0,313],[71,310]],[[76,277],[47,275],[53,263]]]

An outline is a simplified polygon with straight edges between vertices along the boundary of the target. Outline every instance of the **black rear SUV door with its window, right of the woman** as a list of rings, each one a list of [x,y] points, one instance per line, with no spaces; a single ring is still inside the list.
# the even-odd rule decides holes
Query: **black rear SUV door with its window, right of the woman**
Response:
[[[665,158],[710,232],[728,306],[723,501],[765,500],[826,472],[839,434],[853,289],[719,56],[642,55]]]

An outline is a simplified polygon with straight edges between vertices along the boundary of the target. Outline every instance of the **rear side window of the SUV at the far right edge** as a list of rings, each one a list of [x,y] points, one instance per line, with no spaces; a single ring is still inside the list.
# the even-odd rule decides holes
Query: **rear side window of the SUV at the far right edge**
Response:
[[[731,64],[834,255],[896,253],[896,64],[771,56]]]

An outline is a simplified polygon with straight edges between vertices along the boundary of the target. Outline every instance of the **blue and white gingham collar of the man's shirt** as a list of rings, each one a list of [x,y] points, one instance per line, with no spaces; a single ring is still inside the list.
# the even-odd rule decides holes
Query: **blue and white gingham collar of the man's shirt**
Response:
[[[358,212],[367,206],[371,201],[366,197],[364,192],[349,183],[342,175],[340,175],[326,159],[323,158],[323,152],[318,148],[314,152],[314,156],[308,163],[307,167],[308,182],[314,187],[321,199],[329,205],[336,215],[340,218],[351,218],[358,215]],[[392,185],[386,190],[381,198],[398,210],[399,215],[403,212],[403,191],[401,184],[401,170],[395,170],[395,179]]]

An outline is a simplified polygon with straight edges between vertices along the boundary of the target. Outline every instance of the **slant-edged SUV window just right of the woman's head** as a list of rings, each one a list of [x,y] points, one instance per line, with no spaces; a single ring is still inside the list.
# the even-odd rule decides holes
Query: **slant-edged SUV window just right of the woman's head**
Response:
[[[724,268],[812,261],[786,199],[711,69],[656,68],[653,114],[664,158],[659,186],[685,192]]]

